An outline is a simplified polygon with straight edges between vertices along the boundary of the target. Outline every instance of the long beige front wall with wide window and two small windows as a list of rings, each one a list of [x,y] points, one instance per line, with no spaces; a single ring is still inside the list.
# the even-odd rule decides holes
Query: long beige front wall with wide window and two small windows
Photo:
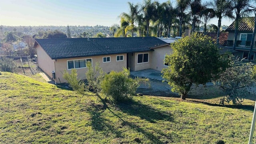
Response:
[[[116,61],[116,56],[119,56],[119,55],[124,55],[123,61]],[[110,56],[110,62],[103,62],[103,57],[106,57],[106,56]],[[55,62],[57,83],[66,82],[66,80],[64,80],[64,78],[62,77],[62,73],[64,72],[64,70],[71,72],[71,70],[68,70],[67,60],[78,60],[78,59],[86,59],[86,58],[92,58],[92,66],[95,66],[96,62],[99,62],[100,67],[106,73],[112,70],[122,71],[123,67],[126,68],[126,64],[127,64],[126,54],[113,54],[113,55],[103,55],[103,56],[58,59]],[[87,71],[87,68],[77,68],[76,70],[77,70],[78,78],[82,80],[86,79],[85,73]]]

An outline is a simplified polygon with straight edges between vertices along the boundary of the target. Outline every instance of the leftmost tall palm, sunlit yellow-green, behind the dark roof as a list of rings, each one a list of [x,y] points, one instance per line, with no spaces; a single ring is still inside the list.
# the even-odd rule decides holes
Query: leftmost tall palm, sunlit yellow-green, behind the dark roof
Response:
[[[135,26],[134,22],[136,22],[136,16],[138,15],[138,4],[134,5],[133,3],[128,2],[129,5],[129,13],[123,12],[121,16],[129,22],[129,26],[126,27],[127,30],[132,30],[132,37],[134,34]]]

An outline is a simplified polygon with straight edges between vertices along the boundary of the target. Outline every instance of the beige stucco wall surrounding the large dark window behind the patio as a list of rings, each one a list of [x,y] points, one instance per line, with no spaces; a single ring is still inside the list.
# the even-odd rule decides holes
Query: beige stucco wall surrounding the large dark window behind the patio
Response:
[[[138,54],[145,54],[145,53],[148,53],[148,62],[146,63],[137,63],[138,62]],[[150,62],[152,61],[151,60],[151,55],[152,55],[152,52],[135,52],[134,53],[134,71],[138,71],[138,70],[145,70],[145,69],[148,69],[148,68],[151,68],[150,67]]]

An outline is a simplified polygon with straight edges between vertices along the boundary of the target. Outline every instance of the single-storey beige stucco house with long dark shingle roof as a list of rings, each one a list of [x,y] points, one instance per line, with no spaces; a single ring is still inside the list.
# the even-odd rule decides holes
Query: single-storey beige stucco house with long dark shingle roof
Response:
[[[86,61],[100,63],[104,72],[154,69],[161,71],[166,66],[164,58],[172,49],[166,42],[155,37],[135,38],[63,38],[37,39],[38,67],[48,76],[55,72],[55,82],[66,82],[64,70],[77,69],[78,77],[86,79]]]

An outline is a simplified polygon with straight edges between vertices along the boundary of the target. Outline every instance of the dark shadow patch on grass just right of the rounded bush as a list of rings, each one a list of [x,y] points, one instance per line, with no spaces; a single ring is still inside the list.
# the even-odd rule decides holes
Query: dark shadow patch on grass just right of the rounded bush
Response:
[[[117,106],[122,112],[132,116],[138,116],[151,123],[155,123],[156,120],[173,120],[172,114],[144,105],[139,101],[130,100]]]

